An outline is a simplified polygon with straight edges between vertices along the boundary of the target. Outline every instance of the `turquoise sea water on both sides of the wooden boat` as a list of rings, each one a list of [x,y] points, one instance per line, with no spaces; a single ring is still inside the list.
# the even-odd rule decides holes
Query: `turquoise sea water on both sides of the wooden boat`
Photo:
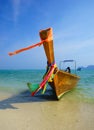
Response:
[[[44,73],[45,70],[0,70],[0,91],[19,93],[28,90],[27,82],[40,83]],[[77,100],[94,101],[94,70],[82,70],[77,74],[80,81],[67,96]]]

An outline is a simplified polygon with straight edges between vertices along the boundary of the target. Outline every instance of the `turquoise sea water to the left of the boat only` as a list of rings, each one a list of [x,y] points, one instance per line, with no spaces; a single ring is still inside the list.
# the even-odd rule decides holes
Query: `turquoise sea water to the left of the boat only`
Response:
[[[26,90],[27,82],[39,83],[43,74],[44,70],[0,70],[0,90]]]

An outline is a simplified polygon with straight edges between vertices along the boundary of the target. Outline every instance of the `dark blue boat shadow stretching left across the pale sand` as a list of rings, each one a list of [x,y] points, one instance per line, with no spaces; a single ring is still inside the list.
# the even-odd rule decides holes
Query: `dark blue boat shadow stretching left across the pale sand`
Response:
[[[12,105],[14,103],[32,103],[46,101],[56,101],[56,96],[52,90],[46,90],[45,94],[41,94],[39,92],[33,97],[31,96],[30,92],[26,90],[0,101],[0,109],[18,109]]]

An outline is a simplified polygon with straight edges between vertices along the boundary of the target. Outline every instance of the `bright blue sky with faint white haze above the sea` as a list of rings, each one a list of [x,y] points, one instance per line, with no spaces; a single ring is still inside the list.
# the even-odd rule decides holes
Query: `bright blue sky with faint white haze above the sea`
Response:
[[[55,60],[94,64],[94,0],[0,0],[0,69],[46,67],[43,46],[8,56],[40,41],[53,28]]]

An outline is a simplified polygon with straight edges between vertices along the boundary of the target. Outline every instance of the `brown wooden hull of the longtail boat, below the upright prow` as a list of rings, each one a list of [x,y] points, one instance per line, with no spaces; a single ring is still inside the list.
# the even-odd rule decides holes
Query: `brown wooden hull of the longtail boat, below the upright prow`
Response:
[[[55,90],[57,99],[60,99],[64,93],[77,85],[78,80],[78,76],[59,70],[49,84]]]

